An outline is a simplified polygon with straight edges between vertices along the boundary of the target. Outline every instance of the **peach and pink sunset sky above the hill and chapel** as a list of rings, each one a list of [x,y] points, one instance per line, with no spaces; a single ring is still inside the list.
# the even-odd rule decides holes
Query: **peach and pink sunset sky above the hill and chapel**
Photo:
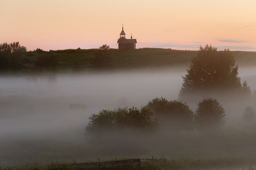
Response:
[[[136,48],[256,51],[256,0],[0,0],[0,21],[28,50],[118,48],[124,24]]]

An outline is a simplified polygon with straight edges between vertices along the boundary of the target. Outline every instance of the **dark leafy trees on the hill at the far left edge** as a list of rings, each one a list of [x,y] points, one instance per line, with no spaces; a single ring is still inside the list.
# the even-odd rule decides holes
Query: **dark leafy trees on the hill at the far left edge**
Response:
[[[20,46],[19,42],[0,44],[0,70],[17,70],[21,67],[20,56],[26,52],[25,46]]]

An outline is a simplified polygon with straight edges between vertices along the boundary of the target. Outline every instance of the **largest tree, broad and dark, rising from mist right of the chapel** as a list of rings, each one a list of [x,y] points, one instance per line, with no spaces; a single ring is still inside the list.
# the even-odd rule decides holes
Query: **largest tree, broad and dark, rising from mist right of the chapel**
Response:
[[[182,76],[180,96],[195,91],[241,89],[238,66],[229,49],[217,51],[211,45],[200,46],[187,72]]]

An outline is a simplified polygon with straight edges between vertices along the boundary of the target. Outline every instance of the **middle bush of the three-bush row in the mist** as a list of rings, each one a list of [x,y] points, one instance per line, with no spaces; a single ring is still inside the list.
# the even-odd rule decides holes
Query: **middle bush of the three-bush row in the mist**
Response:
[[[146,107],[154,113],[159,121],[168,121],[173,129],[193,129],[193,111],[189,109],[186,103],[156,97],[149,101]]]

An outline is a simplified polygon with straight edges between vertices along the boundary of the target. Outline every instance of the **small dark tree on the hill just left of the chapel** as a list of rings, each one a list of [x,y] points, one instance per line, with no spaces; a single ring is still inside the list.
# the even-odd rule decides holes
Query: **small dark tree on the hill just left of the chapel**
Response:
[[[91,62],[92,67],[96,69],[110,69],[112,68],[112,57],[110,53],[110,47],[104,44],[99,47],[94,54],[94,58]]]

